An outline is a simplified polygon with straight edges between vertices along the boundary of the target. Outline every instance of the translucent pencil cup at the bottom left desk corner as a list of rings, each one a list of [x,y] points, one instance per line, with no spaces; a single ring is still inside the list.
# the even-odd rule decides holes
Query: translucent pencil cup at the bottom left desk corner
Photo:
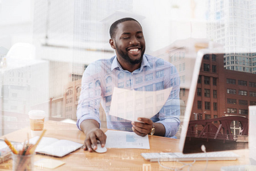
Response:
[[[13,156],[13,171],[32,171],[34,170],[34,154],[21,155],[14,154]]]

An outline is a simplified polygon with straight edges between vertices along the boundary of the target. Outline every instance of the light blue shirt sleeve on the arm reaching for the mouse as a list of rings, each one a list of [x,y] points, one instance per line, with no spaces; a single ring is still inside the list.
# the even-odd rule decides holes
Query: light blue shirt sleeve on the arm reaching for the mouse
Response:
[[[76,125],[79,129],[80,124],[87,119],[94,119],[101,125],[99,117],[101,99],[99,68],[99,64],[90,64],[84,71],[82,77],[81,93],[76,111],[76,117],[78,119]]]

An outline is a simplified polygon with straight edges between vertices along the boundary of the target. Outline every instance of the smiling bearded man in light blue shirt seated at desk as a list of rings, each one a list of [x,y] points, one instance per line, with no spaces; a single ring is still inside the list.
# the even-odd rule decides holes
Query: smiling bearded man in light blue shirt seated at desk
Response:
[[[82,91],[79,99],[77,125],[86,135],[84,150],[92,152],[97,140],[105,145],[107,137],[100,128],[99,107],[104,108],[107,127],[133,131],[139,136],[149,133],[172,137],[180,124],[179,79],[175,67],[162,59],[144,55],[143,30],[135,19],[123,18],[114,22],[109,30],[109,44],[116,51],[111,59],[91,63],[84,71]],[[128,121],[109,115],[113,88],[135,89],[136,91],[157,91],[173,87],[168,100],[159,113],[151,119],[138,118],[140,122]],[[162,100],[159,96],[159,100]],[[147,99],[153,103],[153,99]],[[151,111],[148,111],[151,112]]]

